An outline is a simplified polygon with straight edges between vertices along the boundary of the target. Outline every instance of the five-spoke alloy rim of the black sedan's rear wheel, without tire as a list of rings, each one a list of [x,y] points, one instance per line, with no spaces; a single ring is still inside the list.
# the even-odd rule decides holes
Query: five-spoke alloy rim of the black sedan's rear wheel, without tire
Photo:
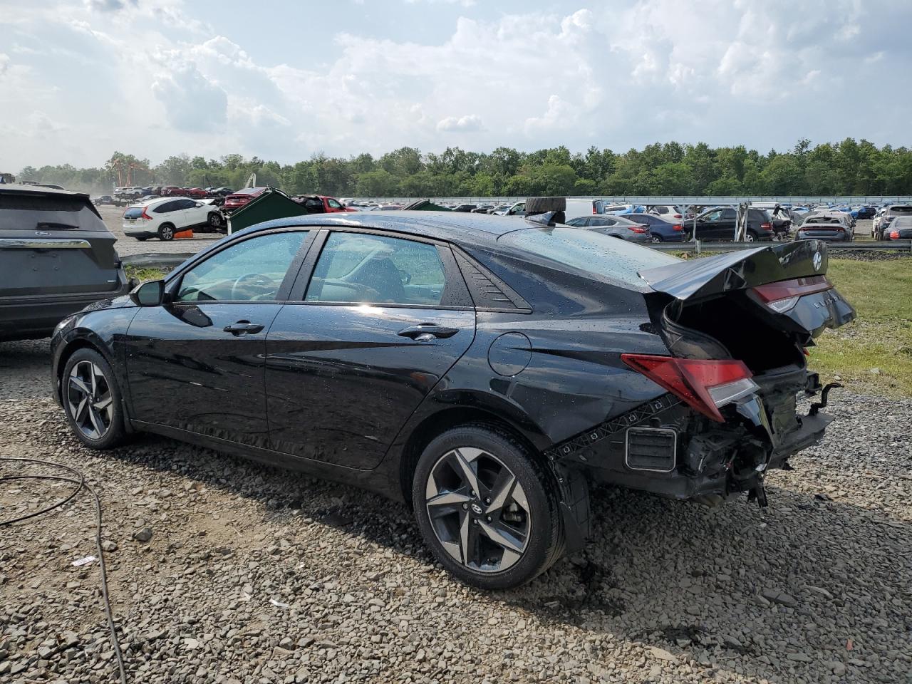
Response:
[[[532,515],[523,485],[496,456],[473,447],[443,454],[425,486],[430,527],[458,563],[482,573],[515,565]]]

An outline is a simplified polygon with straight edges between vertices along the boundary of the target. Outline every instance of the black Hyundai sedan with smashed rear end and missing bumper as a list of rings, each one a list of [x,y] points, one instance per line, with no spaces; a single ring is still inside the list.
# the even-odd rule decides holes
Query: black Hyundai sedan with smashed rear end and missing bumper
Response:
[[[430,212],[429,212],[430,213]],[[589,487],[765,503],[832,420],[803,347],[855,316],[825,245],[682,261],[484,214],[261,223],[68,317],[57,400],[85,445],[157,432],[408,502],[486,588],[578,549]],[[170,397],[170,401],[162,401]]]

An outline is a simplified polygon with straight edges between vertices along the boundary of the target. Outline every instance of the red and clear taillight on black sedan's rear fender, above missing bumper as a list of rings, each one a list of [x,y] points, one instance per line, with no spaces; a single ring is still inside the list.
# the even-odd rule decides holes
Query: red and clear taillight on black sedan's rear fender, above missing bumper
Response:
[[[704,360],[621,354],[621,360],[704,416],[719,422],[725,422],[720,406],[757,389],[751,371],[743,361],[734,358]]]

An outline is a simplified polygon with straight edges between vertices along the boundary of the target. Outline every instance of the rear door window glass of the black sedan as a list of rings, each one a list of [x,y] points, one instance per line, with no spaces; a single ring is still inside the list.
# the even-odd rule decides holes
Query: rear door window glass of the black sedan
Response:
[[[433,244],[332,233],[307,287],[308,302],[436,306],[446,278]]]

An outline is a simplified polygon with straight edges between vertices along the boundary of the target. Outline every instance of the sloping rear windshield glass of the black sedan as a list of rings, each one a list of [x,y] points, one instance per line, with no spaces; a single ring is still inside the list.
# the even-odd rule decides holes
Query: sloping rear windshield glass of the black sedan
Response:
[[[678,258],[627,243],[605,233],[578,228],[525,228],[504,233],[498,242],[538,254],[577,271],[603,275],[627,285],[644,286],[638,271],[675,264]]]

